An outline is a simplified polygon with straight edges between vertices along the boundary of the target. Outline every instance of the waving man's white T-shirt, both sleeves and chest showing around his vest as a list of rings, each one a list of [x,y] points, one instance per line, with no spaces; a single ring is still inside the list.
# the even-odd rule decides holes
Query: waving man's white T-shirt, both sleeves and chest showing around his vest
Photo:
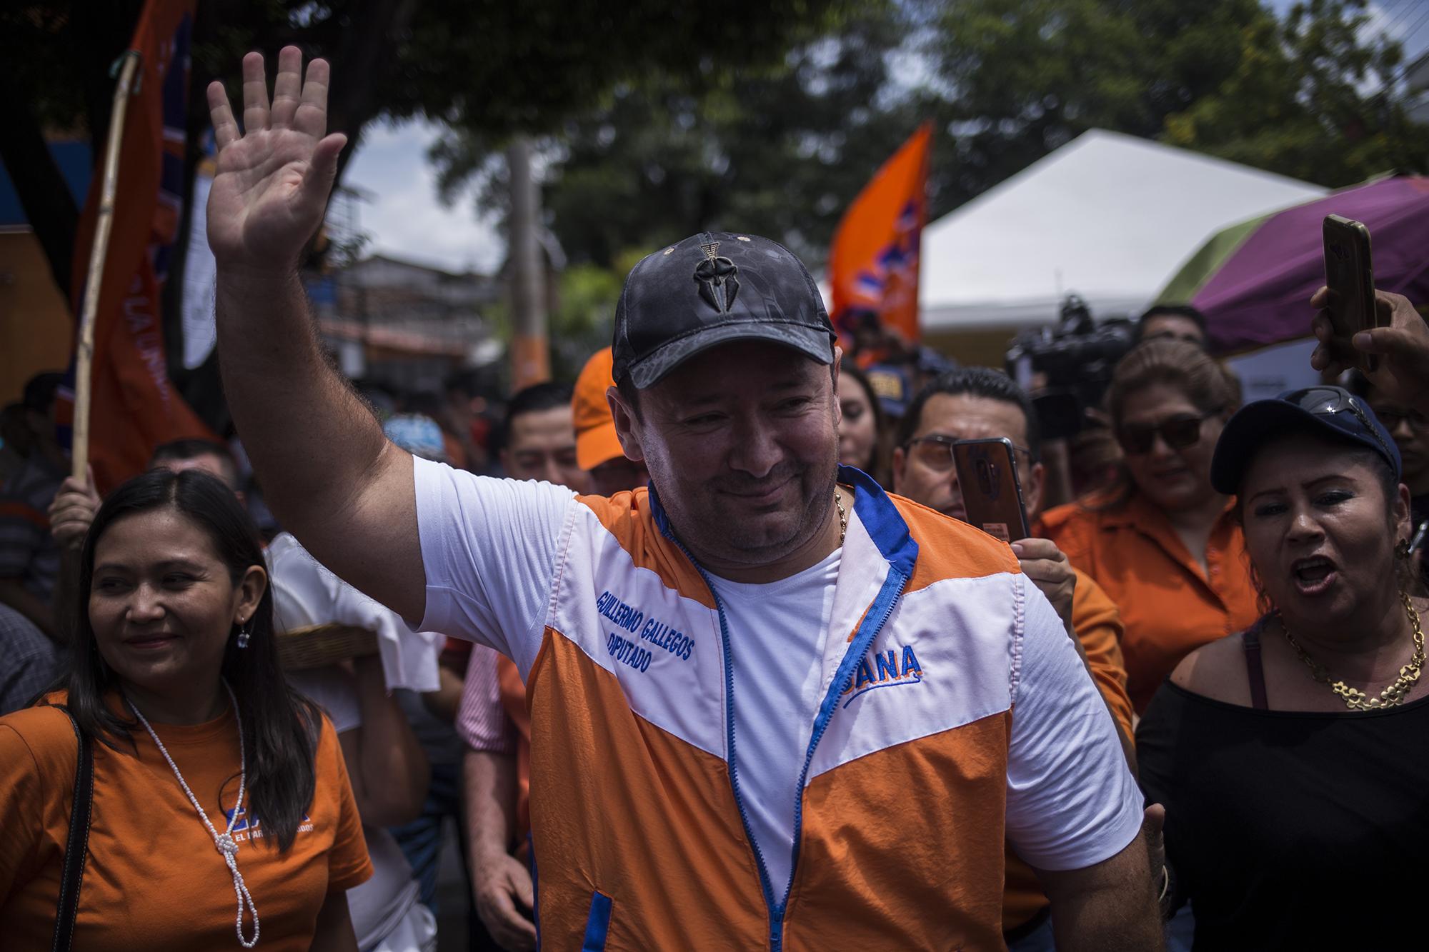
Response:
[[[426,567],[426,616],[417,628],[489,645],[514,660],[524,676],[540,650],[562,527],[572,506],[582,503],[569,489],[550,483],[473,476],[422,459],[414,466],[417,532]],[[827,567],[820,563],[809,572]],[[793,600],[783,590],[790,582],[800,590]],[[722,600],[723,589],[733,585],[716,580]],[[832,587],[827,580],[825,585]],[[1023,859],[1039,869],[1080,869],[1109,859],[1136,836],[1142,796],[1126,768],[1110,715],[1062,619],[1030,582],[1022,585],[1026,605],[1007,755],[1006,833]],[[799,602],[807,592],[797,577],[740,587],[747,598],[736,596],[726,603],[732,652],[777,643],[783,653],[785,643],[779,639],[792,639],[799,643],[792,650],[800,652],[802,659],[809,650],[810,629],[819,629],[816,645],[822,645],[829,606],[823,599],[817,606]],[[772,618],[792,618],[795,623],[776,625],[767,620]],[[802,660],[740,665],[737,656],[733,666],[736,768],[746,763],[740,743],[753,748],[752,759],[760,750],[797,750],[792,775],[787,763],[793,760],[786,760],[785,753],[759,769],[740,770],[740,799],[766,865],[782,862],[786,871],[785,882],[777,873],[770,876],[776,902],[783,899],[793,851],[796,790],[790,776],[797,778],[803,768],[803,750],[822,700],[805,696],[806,685],[797,675],[807,668]],[[787,680],[777,680],[786,675]],[[785,712],[792,705],[797,720],[790,725],[785,722],[787,713],[770,715],[772,705]],[[776,720],[779,726],[770,730]],[[779,780],[766,783],[755,776],[775,766],[783,772]],[[785,792],[775,790],[773,783],[783,785]],[[777,845],[766,842],[775,838],[780,841]],[[772,865],[772,872],[777,868]]]

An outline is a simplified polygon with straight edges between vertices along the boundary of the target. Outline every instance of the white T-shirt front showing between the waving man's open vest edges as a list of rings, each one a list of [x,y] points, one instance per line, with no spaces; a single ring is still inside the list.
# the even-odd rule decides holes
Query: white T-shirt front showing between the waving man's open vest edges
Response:
[[[735,660],[735,769],[749,828],[776,899],[793,866],[799,772],[823,700],[819,659],[839,580],[836,549],[819,565],[779,582],[749,585],[710,576],[725,608]],[[770,663],[770,645],[779,662]]]

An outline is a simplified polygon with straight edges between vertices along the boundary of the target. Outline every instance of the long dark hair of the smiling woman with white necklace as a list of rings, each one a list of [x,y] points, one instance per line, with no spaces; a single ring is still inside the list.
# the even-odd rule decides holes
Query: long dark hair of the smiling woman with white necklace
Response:
[[[94,547],[119,519],[170,506],[204,530],[213,550],[227,566],[233,585],[250,566],[264,566],[257,526],[233,490],[209,473],[154,469],[130,479],[104,500],[94,513],[80,553],[79,596],[71,616],[74,652],[66,703],[81,730],[114,750],[123,740],[133,746],[131,732],[139,722],[116,713],[106,698],[119,689],[119,678],[100,656],[89,618]],[[239,699],[239,716],[243,718],[249,813],[263,822],[264,838],[274,839],[280,851],[287,851],[313,802],[313,758],[322,715],[312,702],[289,689],[279,668],[273,643],[272,585],[263,592],[249,632],[249,646],[242,649],[234,638],[237,629],[229,632],[221,673]]]

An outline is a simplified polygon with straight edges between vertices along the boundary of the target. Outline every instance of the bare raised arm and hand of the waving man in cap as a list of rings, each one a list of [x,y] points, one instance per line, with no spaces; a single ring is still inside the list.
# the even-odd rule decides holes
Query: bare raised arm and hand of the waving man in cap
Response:
[[[217,260],[219,366],[263,495],[303,546],[403,618],[423,616],[412,457],[323,360],[297,274],[323,222],[347,139],[327,134],[329,67],[303,77],[279,54],[269,106],[263,57],[243,59],[243,132],[221,83],[209,86],[219,147],[209,193]]]

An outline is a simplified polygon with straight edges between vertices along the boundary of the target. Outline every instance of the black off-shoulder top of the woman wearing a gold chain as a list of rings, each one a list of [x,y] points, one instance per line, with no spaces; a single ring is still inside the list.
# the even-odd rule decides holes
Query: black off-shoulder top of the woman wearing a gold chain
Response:
[[[1167,680],[1136,758],[1196,949],[1429,948],[1429,698],[1256,710]]]

